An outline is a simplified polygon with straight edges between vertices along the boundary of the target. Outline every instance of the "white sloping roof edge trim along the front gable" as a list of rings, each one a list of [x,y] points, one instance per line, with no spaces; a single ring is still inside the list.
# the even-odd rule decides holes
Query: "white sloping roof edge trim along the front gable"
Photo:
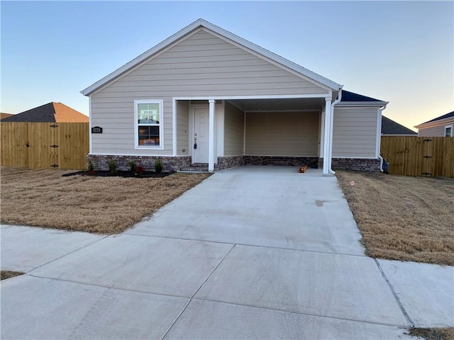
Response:
[[[279,55],[276,55],[275,53],[270,52],[269,50],[266,50],[263,47],[255,45],[253,42],[240,38],[238,35],[234,35],[233,33],[230,33],[227,30],[224,30],[223,28],[220,28],[212,23],[209,23],[204,19],[198,19],[194,21],[194,23],[191,23],[189,26],[186,26],[182,30],[179,30],[179,32],[170,36],[166,40],[160,42],[155,47],[152,47],[150,50],[144,52],[142,55],[135,57],[135,59],[131,60],[131,62],[124,64],[122,67],[116,69],[116,71],[112,72],[111,74],[108,74],[106,77],[100,79],[99,81],[96,81],[96,83],[87,87],[87,89],[80,91],[80,93],[83,94],[84,96],[89,96],[97,89],[106,85],[110,81],[116,79],[116,77],[119,77],[122,74],[128,72],[133,67],[138,66],[138,64],[145,62],[149,58],[153,57],[153,55],[155,55],[160,50],[163,50],[164,48],[172,45],[177,40],[184,38],[186,35],[189,35],[189,33],[192,33],[194,30],[198,30],[199,28],[211,30],[211,32],[217,33],[218,35],[221,35],[223,38],[232,40],[233,42],[236,42],[238,45],[241,45],[246,49],[252,50],[253,52],[256,52],[259,55],[262,55],[263,57],[266,57],[274,62],[277,62],[278,64],[282,64],[282,66],[292,69],[293,71],[303,75],[304,77],[308,77],[309,79],[312,79],[318,82],[319,84],[323,84],[324,86],[327,86],[333,89],[334,91],[338,91],[343,87],[343,85],[337,84],[336,82],[328,78],[322,77],[320,74],[316,74],[315,72],[312,72],[309,69],[301,67],[299,66],[299,64],[295,64],[294,62],[291,62]]]

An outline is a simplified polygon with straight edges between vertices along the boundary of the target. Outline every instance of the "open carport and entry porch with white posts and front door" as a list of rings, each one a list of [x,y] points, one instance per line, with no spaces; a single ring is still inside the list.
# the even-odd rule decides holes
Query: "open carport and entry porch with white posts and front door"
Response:
[[[331,159],[333,99],[340,94],[174,98],[174,108],[177,122],[187,115],[192,163],[207,164],[209,171],[246,164],[317,165]],[[178,143],[177,137],[177,149]],[[331,162],[323,162],[323,175],[330,169]]]

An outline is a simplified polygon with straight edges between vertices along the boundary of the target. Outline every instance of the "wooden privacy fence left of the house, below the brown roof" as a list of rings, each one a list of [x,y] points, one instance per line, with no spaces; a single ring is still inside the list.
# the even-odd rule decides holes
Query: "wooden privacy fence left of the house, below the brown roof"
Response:
[[[1,123],[1,166],[85,169],[89,123]]]

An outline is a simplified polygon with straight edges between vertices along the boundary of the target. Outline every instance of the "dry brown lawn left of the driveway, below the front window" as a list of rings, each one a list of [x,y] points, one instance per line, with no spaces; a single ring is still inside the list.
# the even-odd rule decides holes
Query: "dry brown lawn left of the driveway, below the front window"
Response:
[[[209,176],[62,177],[70,172],[1,167],[1,223],[116,234]]]

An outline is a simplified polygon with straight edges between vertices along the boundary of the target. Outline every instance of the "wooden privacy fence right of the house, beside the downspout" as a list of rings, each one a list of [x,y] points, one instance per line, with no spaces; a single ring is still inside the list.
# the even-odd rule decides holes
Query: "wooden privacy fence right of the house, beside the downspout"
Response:
[[[453,137],[383,136],[381,154],[392,175],[454,177]]]

